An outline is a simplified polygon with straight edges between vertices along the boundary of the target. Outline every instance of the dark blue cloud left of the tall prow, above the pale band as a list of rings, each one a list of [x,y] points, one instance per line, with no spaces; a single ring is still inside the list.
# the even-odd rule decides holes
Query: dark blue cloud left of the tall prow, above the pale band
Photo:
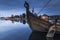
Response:
[[[24,0],[0,0],[0,10],[10,10],[24,7]]]

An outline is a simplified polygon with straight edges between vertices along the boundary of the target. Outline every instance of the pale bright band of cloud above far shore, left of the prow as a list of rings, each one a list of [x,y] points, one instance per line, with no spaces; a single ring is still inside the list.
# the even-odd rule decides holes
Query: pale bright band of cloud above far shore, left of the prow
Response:
[[[25,9],[0,10],[0,17],[9,17],[11,15],[21,15]]]

